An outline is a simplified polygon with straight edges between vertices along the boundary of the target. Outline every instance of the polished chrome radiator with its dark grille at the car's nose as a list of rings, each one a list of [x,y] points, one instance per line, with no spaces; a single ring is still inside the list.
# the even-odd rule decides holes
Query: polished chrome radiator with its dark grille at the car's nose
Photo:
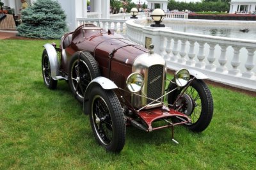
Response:
[[[150,109],[161,106],[160,102],[150,104],[153,100],[148,98],[156,100],[164,94],[166,79],[166,63],[164,59],[158,54],[141,54],[134,60],[132,72],[141,73],[144,76],[143,88],[136,93],[138,95],[132,94],[131,96],[133,107],[141,108],[147,105],[145,109]],[[160,101],[163,102],[163,98]]]

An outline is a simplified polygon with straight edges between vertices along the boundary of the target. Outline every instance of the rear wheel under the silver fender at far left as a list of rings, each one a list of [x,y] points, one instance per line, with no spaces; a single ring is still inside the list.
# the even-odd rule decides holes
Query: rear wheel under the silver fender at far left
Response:
[[[58,81],[52,79],[50,60],[46,49],[42,54],[42,75],[45,86],[49,89],[56,89]]]

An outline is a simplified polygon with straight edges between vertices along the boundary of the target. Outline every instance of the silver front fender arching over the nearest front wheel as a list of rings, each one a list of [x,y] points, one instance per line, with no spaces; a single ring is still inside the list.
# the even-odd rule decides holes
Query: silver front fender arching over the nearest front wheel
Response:
[[[84,105],[83,105],[83,109],[84,109],[84,113],[85,114],[89,114],[89,97],[90,97],[90,92],[92,91],[92,88],[95,86],[101,86],[103,89],[118,89],[118,87],[116,86],[116,84],[107,79],[106,77],[97,77],[95,79],[93,79],[87,86],[85,92],[84,92]]]

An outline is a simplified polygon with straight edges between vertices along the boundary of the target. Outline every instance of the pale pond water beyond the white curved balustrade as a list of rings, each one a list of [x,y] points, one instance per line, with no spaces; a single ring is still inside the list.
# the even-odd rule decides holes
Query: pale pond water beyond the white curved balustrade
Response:
[[[152,23],[144,22],[140,24],[150,26]],[[256,22],[188,22],[168,20],[163,22],[163,24],[166,28],[169,27],[173,31],[256,40]]]

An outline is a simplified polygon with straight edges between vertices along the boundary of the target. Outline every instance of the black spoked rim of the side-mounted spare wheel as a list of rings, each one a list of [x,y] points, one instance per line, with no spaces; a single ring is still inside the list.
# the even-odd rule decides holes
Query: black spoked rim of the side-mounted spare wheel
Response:
[[[77,60],[72,65],[72,85],[76,95],[83,98],[90,81],[92,81],[90,70],[83,60]]]

